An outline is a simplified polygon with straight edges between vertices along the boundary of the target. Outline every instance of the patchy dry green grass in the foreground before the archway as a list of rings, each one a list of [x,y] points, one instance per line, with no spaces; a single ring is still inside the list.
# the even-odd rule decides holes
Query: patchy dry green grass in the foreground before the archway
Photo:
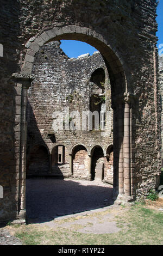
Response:
[[[84,234],[79,232],[77,225],[72,225],[71,228],[60,225],[55,229],[39,224],[8,228],[24,245],[163,245],[162,212],[147,209],[143,205],[119,207],[98,213],[99,223],[108,213],[114,216],[111,221],[116,221],[117,227],[121,228],[117,233]],[[95,215],[90,215],[91,217]],[[67,220],[67,223],[71,221],[74,218]]]

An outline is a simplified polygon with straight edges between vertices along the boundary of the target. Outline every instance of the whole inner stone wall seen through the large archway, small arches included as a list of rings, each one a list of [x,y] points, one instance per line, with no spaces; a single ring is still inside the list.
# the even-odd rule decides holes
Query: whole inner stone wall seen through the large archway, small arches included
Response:
[[[104,60],[99,52],[70,59],[59,46],[50,42],[35,56],[27,105],[27,176],[101,177],[113,184],[111,88]],[[53,128],[54,114],[60,112],[61,123],[67,108],[69,130],[65,119],[59,130]],[[98,113],[97,130],[83,129],[87,111]]]

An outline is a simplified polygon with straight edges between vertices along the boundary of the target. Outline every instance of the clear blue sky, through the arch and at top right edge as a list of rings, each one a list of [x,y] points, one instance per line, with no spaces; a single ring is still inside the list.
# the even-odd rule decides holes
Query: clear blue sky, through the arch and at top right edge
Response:
[[[158,23],[158,32],[156,33],[156,36],[158,36],[159,39],[157,46],[158,48],[160,46],[159,53],[163,54],[163,0],[159,1],[157,15],[158,17],[156,18],[156,21]],[[97,51],[96,48],[86,44],[86,42],[76,40],[61,40],[60,47],[70,58],[77,58],[79,55],[88,52],[92,55],[93,52]]]

